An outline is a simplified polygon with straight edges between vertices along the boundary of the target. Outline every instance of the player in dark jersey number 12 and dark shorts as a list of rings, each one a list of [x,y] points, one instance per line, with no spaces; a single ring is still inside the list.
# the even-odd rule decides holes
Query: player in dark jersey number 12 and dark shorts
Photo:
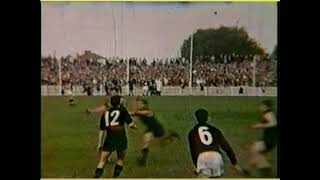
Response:
[[[113,151],[117,151],[117,162],[114,168],[113,178],[120,175],[127,149],[127,136],[124,124],[130,128],[136,128],[128,111],[120,107],[120,96],[110,98],[111,107],[102,115],[100,120],[98,151],[101,151],[100,161],[96,168],[94,178],[100,178],[108,157]],[[105,133],[106,140],[103,142]]]

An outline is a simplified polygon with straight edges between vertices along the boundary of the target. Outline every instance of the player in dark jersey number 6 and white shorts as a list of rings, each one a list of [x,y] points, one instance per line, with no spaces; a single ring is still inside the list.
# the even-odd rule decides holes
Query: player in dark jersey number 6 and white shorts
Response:
[[[188,139],[196,174],[200,177],[220,177],[223,175],[224,164],[220,148],[227,153],[234,167],[238,171],[242,171],[237,164],[233,149],[222,132],[207,123],[208,112],[204,109],[199,109],[195,115],[198,124],[189,132]]]

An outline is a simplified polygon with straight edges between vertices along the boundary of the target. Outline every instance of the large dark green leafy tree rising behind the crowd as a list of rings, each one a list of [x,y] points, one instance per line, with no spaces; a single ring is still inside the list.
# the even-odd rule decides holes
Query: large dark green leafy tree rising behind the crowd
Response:
[[[181,56],[190,57],[191,36],[184,40],[181,46]],[[264,55],[265,50],[251,37],[248,32],[239,27],[214,29],[198,29],[193,35],[193,59],[200,61],[228,62],[236,56],[244,57],[254,54]]]

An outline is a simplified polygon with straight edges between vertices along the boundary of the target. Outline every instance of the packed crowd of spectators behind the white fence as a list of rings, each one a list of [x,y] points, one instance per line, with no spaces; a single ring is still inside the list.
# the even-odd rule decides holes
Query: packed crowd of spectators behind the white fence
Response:
[[[127,59],[107,58],[101,61],[48,56],[41,58],[42,85],[59,84],[60,60],[63,85],[127,84]],[[189,83],[190,65],[183,58],[153,59],[150,63],[145,58],[129,58],[129,62],[130,81],[135,86],[143,86],[156,79],[160,79],[164,86],[185,87]],[[253,74],[256,74],[256,86],[275,86],[275,73],[270,59],[256,61],[255,66],[249,58],[231,63],[200,63],[195,60],[192,73],[194,86],[251,86]]]

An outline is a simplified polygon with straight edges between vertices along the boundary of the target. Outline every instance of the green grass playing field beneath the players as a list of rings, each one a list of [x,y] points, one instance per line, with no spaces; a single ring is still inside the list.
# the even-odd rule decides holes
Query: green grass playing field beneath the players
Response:
[[[130,98],[126,97],[130,103]],[[150,107],[166,129],[177,131],[180,141],[166,147],[153,143],[147,167],[137,165],[140,138],[144,127],[128,130],[128,150],[121,178],[190,178],[192,160],[187,134],[195,124],[193,112],[208,109],[211,124],[222,130],[234,148],[241,165],[245,165],[244,147],[260,137],[260,131],[249,126],[258,121],[258,105],[263,97],[148,97]],[[69,106],[66,97],[41,99],[41,177],[90,178],[97,165],[95,151],[98,142],[98,114],[87,115],[84,110],[102,102],[102,97],[77,97],[77,105]],[[276,100],[276,98],[274,98]],[[115,157],[115,154],[113,154]],[[226,156],[225,156],[226,157]],[[237,174],[225,159],[226,178],[245,177]],[[276,149],[269,155],[274,174],[277,168]],[[103,177],[111,177],[114,164],[107,164]],[[252,177],[255,177],[253,175]]]

